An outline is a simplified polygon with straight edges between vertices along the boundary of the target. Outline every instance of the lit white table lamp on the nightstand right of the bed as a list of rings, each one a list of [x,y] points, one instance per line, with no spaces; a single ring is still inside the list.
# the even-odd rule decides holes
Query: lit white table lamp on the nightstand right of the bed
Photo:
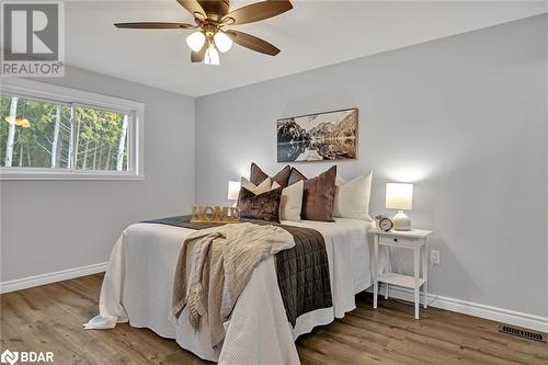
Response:
[[[387,183],[386,208],[398,209],[392,218],[395,230],[410,230],[411,220],[403,210],[413,208],[413,184]]]

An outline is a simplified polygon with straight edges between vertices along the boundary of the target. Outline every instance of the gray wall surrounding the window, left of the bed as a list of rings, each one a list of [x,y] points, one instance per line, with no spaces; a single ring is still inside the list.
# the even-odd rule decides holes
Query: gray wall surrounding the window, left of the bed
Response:
[[[79,69],[39,81],[144,102],[146,176],[0,181],[0,282],[105,262],[126,226],[194,201],[194,99]]]

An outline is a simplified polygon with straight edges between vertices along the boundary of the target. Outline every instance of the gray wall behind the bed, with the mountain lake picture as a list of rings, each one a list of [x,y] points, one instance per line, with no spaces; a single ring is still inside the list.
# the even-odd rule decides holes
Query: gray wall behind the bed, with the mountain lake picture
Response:
[[[226,203],[251,161],[284,166],[277,118],[357,106],[359,159],[339,171],[375,171],[373,213],[386,181],[414,182],[431,293],[548,317],[547,33],[540,15],[199,98],[196,203]]]

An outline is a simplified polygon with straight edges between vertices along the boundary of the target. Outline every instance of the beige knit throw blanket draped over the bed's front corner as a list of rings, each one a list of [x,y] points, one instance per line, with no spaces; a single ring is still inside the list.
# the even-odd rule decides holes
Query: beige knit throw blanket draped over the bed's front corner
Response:
[[[179,254],[173,282],[171,315],[178,317],[189,306],[194,329],[207,316],[212,346],[225,339],[222,323],[246,288],[255,266],[270,255],[295,246],[283,228],[250,223],[197,230],[186,238]],[[231,307],[222,310],[227,287]]]

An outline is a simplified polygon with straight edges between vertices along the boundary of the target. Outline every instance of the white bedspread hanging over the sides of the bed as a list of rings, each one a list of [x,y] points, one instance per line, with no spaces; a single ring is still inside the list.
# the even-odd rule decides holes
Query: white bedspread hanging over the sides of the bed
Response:
[[[87,328],[112,328],[126,322],[149,328],[202,358],[219,364],[299,364],[295,339],[313,327],[342,318],[355,308],[354,295],[372,285],[369,224],[336,218],[336,223],[283,221],[308,227],[326,239],[333,307],[300,316],[290,328],[277,286],[274,259],[259,264],[225,323],[220,349],[212,349],[206,320],[198,331],[190,326],[186,308],[176,323],[169,319],[173,273],[184,239],[193,230],[137,224],[124,230],[114,247],[101,289],[100,315]],[[380,252],[379,271],[387,256]]]

